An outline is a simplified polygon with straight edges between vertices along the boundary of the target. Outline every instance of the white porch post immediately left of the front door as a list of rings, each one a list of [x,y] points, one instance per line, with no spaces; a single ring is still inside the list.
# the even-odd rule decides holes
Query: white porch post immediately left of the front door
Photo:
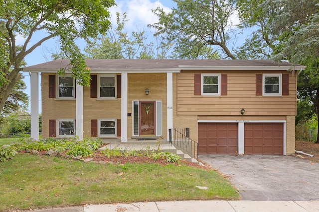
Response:
[[[121,77],[121,142],[128,141],[128,73]]]

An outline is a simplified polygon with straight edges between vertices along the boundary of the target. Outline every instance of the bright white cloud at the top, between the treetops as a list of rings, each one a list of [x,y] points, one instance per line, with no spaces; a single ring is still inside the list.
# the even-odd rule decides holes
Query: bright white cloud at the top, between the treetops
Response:
[[[123,14],[127,12],[126,29],[128,31],[145,30],[148,24],[158,22],[158,17],[152,12],[152,9],[161,7],[169,12],[170,8],[164,6],[160,0],[152,2],[151,0],[117,0],[117,6],[110,8],[112,23],[116,23],[116,12]]]

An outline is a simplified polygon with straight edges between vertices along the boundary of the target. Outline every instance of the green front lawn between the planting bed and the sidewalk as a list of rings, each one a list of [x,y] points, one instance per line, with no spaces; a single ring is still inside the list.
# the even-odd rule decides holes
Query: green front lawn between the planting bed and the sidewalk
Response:
[[[0,211],[120,202],[239,199],[229,181],[213,170],[156,163],[83,163],[28,154],[0,163],[0,188]]]

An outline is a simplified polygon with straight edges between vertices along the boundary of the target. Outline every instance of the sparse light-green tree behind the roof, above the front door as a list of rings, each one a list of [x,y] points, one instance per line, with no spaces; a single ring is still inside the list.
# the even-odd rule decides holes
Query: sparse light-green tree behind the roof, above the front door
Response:
[[[125,31],[127,13],[122,16],[116,13],[116,26],[109,29],[107,35],[100,36],[90,42],[85,52],[92,59],[163,59],[171,45],[164,39],[156,37],[154,42],[148,43],[145,31],[133,31],[131,35]]]

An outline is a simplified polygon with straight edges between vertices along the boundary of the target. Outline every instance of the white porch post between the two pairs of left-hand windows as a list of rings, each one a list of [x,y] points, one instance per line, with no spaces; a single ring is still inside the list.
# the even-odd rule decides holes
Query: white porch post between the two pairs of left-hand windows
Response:
[[[75,135],[79,141],[83,140],[83,86],[76,83],[76,99],[75,99]]]

